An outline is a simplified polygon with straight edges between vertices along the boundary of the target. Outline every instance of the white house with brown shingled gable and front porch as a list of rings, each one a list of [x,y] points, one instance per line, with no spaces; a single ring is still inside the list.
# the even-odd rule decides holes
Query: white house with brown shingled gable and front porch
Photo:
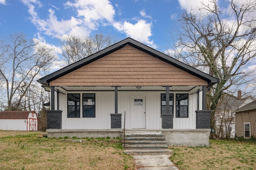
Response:
[[[38,82],[50,90],[50,137],[121,136],[125,119],[128,130],[163,131],[169,145],[208,146],[206,89],[218,79],[134,39]]]

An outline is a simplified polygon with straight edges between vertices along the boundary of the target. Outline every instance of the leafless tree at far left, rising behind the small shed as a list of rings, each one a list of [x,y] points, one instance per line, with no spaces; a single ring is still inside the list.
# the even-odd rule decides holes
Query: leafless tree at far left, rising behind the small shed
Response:
[[[27,41],[22,33],[0,41],[0,77],[7,100],[6,110],[32,109],[29,97],[36,76],[55,59],[52,49],[39,42]],[[29,94],[29,95],[28,95]]]

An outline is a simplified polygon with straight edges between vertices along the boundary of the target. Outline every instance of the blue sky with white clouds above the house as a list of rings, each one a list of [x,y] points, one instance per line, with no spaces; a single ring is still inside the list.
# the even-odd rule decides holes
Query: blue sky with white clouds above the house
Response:
[[[0,0],[0,36],[22,32],[58,46],[65,35],[103,33],[165,51],[180,14],[196,5],[199,0]]]

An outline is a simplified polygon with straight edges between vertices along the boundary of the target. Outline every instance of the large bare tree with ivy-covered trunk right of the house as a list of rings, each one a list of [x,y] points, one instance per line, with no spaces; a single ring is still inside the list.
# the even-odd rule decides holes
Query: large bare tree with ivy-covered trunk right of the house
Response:
[[[176,59],[219,79],[207,93],[207,109],[212,110],[211,128],[216,129],[216,108],[224,93],[237,88],[251,94],[255,90],[256,1],[231,0],[224,12],[217,0],[194,11],[185,12],[177,30],[178,43],[169,53]],[[214,133],[211,137],[214,137]]]

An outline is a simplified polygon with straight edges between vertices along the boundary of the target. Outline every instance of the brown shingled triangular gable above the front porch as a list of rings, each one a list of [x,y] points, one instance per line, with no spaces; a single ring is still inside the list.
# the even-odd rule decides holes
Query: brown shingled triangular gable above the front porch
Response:
[[[50,86],[207,86],[208,82],[130,45],[50,82]]]

